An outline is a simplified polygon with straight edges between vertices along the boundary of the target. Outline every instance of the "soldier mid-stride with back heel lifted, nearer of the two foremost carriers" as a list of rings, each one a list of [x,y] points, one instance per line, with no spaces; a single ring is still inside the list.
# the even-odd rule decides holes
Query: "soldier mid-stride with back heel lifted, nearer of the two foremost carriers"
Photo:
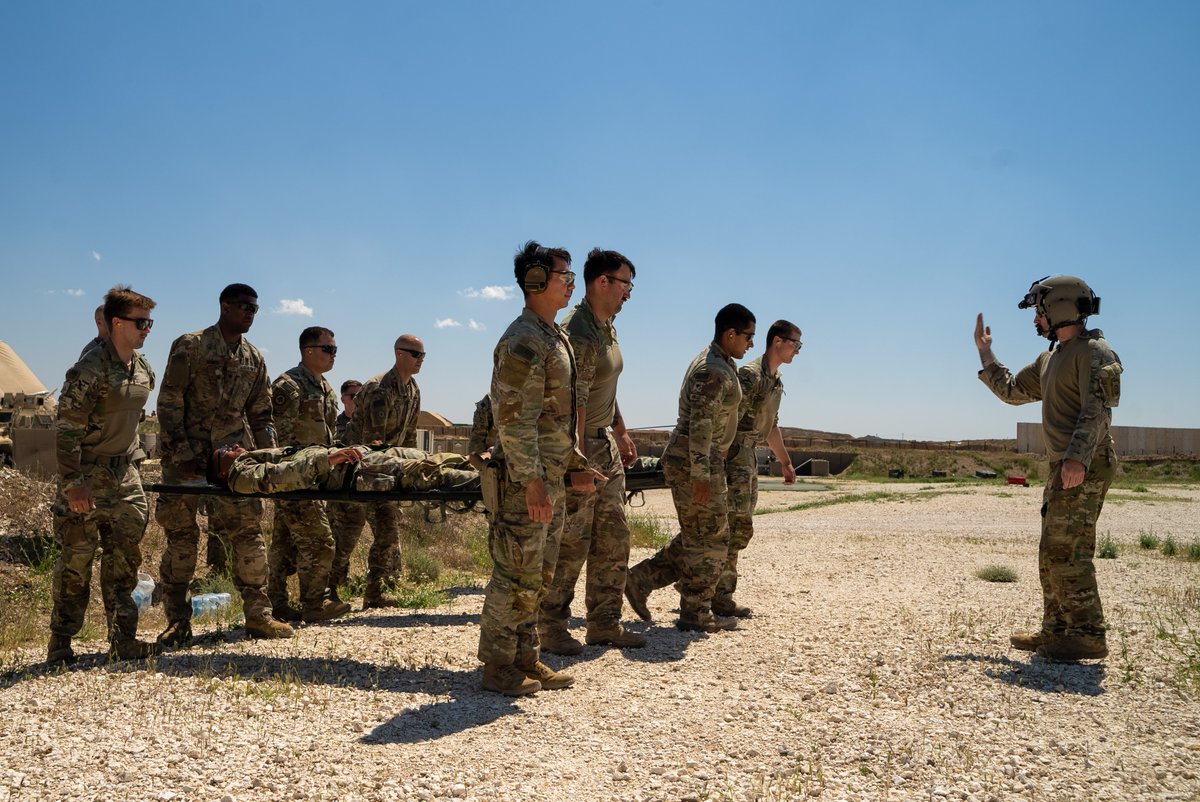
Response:
[[[755,317],[740,304],[716,313],[713,342],[691,360],[679,389],[679,419],[662,451],[662,473],[679,515],[679,534],[630,569],[625,598],[650,620],[650,592],[674,582],[679,629],[737,629],[737,620],[713,614],[716,582],[728,557],[730,525],[725,457],[738,425],[742,385],[734,359],[754,345]]]

